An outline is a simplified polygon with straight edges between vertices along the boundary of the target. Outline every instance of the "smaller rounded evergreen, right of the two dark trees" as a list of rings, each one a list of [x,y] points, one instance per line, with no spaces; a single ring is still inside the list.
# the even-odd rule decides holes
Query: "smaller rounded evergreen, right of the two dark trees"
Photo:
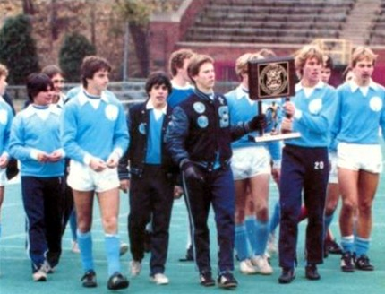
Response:
[[[85,56],[95,55],[96,49],[83,35],[74,32],[64,37],[59,52],[59,65],[68,82],[80,82],[81,62]]]

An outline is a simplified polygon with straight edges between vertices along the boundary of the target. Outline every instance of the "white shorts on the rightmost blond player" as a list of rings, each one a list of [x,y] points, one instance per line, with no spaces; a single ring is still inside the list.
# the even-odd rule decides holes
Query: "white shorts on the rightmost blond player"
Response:
[[[338,168],[381,173],[382,154],[380,145],[338,143]]]

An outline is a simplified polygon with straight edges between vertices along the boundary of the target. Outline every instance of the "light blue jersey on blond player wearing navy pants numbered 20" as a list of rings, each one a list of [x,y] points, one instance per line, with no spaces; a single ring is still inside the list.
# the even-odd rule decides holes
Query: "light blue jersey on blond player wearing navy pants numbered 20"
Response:
[[[285,143],[301,147],[329,147],[330,129],[336,113],[337,92],[324,82],[318,82],[308,95],[301,85],[295,85],[293,132],[301,137]]]

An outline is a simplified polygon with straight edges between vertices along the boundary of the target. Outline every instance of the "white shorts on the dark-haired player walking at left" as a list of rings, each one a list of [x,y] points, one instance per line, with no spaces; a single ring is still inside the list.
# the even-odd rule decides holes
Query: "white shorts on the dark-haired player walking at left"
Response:
[[[120,186],[117,169],[96,172],[78,161],[70,161],[67,184],[77,191],[105,192]]]

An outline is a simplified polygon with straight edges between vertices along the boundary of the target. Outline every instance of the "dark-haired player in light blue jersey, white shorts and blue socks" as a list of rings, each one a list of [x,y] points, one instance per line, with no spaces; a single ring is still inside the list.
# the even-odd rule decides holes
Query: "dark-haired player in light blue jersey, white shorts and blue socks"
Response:
[[[82,88],[64,107],[62,140],[71,159],[67,183],[73,189],[78,220],[78,244],[84,287],[96,287],[92,255],[92,207],[98,196],[108,265],[109,290],[128,287],[120,272],[119,178],[117,165],[128,147],[129,137],[120,101],[105,92],[111,66],[99,56],[87,56],[81,65]]]

